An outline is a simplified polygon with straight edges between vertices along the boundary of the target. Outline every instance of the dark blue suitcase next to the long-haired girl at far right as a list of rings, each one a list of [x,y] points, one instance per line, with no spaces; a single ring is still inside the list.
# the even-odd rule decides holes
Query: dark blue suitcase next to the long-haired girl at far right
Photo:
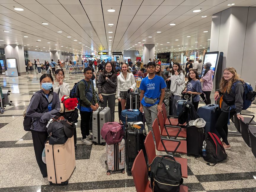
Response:
[[[204,121],[206,121],[206,125],[204,126],[205,132],[212,132],[217,136],[220,136],[215,129],[215,123],[220,115],[219,105],[209,104],[199,107],[197,109],[197,114],[200,118],[203,118]]]

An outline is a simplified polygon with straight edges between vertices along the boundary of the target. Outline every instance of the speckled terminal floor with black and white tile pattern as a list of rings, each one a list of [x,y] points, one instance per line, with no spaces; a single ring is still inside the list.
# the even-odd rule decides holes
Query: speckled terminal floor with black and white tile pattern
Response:
[[[44,73],[45,71],[42,71]],[[7,191],[136,191],[132,176],[119,172],[106,175],[105,147],[86,146],[81,143],[80,116],[77,123],[76,169],[67,186],[50,186],[42,178],[36,163],[32,136],[23,130],[23,110],[34,92],[40,89],[40,75],[28,71],[23,77],[0,75],[0,86],[11,90],[12,105],[0,114],[0,192]],[[83,74],[66,74],[65,82],[73,84]],[[116,105],[116,120],[117,120]],[[256,105],[244,111],[256,113]],[[180,156],[188,159],[188,178],[184,185],[189,191],[256,191],[256,159],[241,134],[236,134],[233,123],[229,126],[231,150],[228,159],[213,167],[206,165],[203,158]],[[158,152],[158,154],[163,154]]]

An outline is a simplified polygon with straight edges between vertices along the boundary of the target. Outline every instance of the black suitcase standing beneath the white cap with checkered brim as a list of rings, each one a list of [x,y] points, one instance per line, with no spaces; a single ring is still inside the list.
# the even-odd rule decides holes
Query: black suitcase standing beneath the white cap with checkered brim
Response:
[[[187,155],[199,157],[202,152],[204,142],[204,128],[187,126]]]

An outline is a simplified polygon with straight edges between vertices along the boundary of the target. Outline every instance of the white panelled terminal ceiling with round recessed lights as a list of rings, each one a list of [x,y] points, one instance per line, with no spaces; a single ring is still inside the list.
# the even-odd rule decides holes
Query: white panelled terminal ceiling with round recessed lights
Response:
[[[234,5],[232,5],[232,4]],[[209,47],[212,15],[255,0],[0,0],[0,48],[88,54]]]

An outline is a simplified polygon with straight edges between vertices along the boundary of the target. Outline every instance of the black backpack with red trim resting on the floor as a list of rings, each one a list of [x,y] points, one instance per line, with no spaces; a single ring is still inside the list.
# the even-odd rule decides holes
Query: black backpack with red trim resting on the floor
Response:
[[[203,142],[203,146],[206,149],[206,156],[203,156],[204,160],[210,163],[215,163],[223,161],[227,159],[227,154],[223,147],[222,142],[220,141],[219,137],[211,132],[207,132],[205,134],[205,140]],[[210,165],[207,163],[207,165]],[[210,166],[214,166],[210,165]]]

